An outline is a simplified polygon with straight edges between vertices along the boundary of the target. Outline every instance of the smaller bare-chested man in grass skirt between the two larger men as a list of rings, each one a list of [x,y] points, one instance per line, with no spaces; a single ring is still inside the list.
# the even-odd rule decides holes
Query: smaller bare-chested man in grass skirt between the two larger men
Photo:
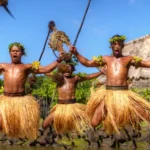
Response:
[[[47,128],[54,123],[57,133],[67,133],[76,131],[83,133],[84,130],[91,128],[90,120],[85,113],[85,105],[76,103],[75,90],[78,82],[90,80],[100,76],[103,72],[93,73],[89,75],[72,76],[74,66],[71,64],[60,64],[58,66],[59,74],[52,76],[57,82],[58,104],[54,106],[43,122],[43,128]]]

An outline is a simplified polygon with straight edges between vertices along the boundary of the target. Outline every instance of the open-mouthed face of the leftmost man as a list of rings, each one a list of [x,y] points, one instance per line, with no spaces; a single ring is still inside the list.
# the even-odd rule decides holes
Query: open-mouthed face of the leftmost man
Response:
[[[17,46],[13,46],[10,50],[10,56],[13,63],[20,63],[23,52]]]

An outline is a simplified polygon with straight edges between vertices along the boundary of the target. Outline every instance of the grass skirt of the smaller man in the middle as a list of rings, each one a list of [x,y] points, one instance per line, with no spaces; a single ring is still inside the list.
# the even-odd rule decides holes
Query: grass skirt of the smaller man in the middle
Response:
[[[54,128],[57,133],[77,132],[82,134],[89,130],[90,119],[85,113],[85,105],[79,103],[57,104],[50,113],[54,112]]]

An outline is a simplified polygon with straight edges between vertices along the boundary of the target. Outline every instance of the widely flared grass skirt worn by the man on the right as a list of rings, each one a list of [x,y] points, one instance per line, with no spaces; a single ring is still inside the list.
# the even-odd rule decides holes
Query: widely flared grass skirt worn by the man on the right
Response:
[[[150,123],[150,103],[132,91],[98,89],[87,104],[90,118],[99,104],[102,105],[104,128],[109,134],[119,133],[126,125],[136,129],[141,121]]]

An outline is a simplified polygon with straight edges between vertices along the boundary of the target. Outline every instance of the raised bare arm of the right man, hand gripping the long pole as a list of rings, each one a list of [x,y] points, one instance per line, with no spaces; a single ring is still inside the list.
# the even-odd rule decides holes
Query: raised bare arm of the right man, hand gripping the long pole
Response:
[[[78,61],[86,67],[98,67],[99,66],[94,60],[88,60],[87,58],[80,55],[77,52],[76,47],[74,46],[70,47],[70,52],[74,54],[77,57]]]

